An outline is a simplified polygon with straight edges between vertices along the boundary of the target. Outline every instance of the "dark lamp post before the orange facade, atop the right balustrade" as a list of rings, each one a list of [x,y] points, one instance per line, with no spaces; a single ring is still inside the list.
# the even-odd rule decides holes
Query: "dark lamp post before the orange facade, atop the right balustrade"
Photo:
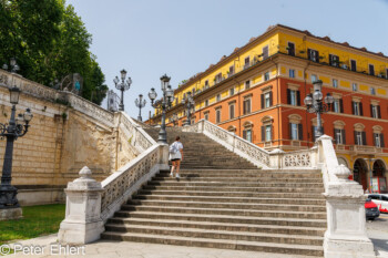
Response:
[[[327,113],[334,102],[334,97],[330,95],[330,93],[327,93],[324,100],[324,94],[321,93],[321,84],[323,82],[320,80],[313,82],[314,93],[307,94],[304,100],[307,112],[317,114],[317,128],[315,132],[315,138],[319,138],[323,135],[320,115],[323,113]]]

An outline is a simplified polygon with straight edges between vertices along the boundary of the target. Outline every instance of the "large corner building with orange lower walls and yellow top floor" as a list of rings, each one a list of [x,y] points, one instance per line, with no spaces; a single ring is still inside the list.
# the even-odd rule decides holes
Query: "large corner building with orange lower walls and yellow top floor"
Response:
[[[323,114],[324,133],[334,138],[340,164],[364,189],[387,193],[388,58],[328,37],[275,25],[180,85],[166,113],[186,120],[182,99],[194,96],[192,122],[205,118],[268,151],[315,144],[316,114],[304,99],[313,82],[335,103]],[[156,112],[153,123],[160,123]]]

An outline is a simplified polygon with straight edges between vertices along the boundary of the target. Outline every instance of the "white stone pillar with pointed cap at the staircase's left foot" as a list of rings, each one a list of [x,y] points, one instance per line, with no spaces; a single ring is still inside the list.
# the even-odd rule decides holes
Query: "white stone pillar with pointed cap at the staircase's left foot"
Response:
[[[83,245],[100,239],[104,231],[101,219],[101,183],[94,180],[92,172],[84,166],[80,178],[70,182],[67,194],[65,218],[61,223],[58,239],[62,244]]]

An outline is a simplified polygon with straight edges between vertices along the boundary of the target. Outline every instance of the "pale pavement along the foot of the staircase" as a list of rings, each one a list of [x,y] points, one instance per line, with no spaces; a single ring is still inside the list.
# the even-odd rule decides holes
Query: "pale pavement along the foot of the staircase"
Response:
[[[57,234],[33,238],[29,240],[19,241],[23,247],[25,246],[41,246],[45,247],[43,255],[31,254],[14,254],[7,257],[93,257],[93,258],[114,258],[114,257],[129,257],[129,258],[312,258],[310,256],[290,256],[279,255],[272,252],[254,252],[254,251],[238,251],[226,249],[213,249],[213,248],[198,248],[186,246],[171,246],[171,245],[155,245],[143,242],[129,242],[129,241],[111,241],[99,240],[93,244],[89,244],[84,247],[85,255],[50,255],[50,245],[54,244],[54,250],[57,248]],[[82,254],[80,247],[80,254]],[[57,252],[55,252],[57,254]]]

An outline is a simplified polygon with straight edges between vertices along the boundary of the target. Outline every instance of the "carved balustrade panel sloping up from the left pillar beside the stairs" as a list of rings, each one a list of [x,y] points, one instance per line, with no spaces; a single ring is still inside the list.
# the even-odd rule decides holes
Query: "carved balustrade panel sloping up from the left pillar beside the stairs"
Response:
[[[101,213],[104,211],[112,203],[133,186],[142,176],[146,175],[150,169],[159,162],[159,148],[153,149],[137,163],[121,172],[112,182],[104,186],[101,197]]]

